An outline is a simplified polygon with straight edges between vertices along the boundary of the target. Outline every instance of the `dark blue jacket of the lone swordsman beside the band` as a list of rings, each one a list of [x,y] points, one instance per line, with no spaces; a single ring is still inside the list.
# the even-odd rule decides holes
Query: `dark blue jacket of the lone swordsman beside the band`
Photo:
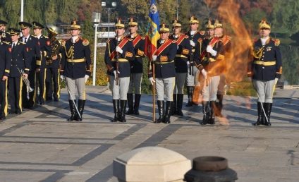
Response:
[[[84,78],[90,76],[90,46],[88,40],[78,38],[75,42],[67,40],[62,51],[61,75],[68,78]]]

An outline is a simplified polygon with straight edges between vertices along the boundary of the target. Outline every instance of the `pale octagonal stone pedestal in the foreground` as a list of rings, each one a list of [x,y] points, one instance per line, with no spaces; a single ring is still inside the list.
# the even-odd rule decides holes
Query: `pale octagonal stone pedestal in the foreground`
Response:
[[[116,157],[113,174],[118,181],[183,181],[191,162],[183,155],[163,147],[142,147]]]

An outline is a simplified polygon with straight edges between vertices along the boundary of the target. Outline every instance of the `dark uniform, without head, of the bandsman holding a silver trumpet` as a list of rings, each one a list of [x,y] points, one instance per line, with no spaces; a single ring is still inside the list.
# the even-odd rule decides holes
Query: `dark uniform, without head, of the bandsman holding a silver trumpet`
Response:
[[[22,88],[23,80],[20,72],[23,70],[25,73],[30,73],[30,59],[32,57],[29,54],[25,43],[18,42],[12,49],[12,61],[11,61],[11,73],[8,78],[8,90],[9,90],[9,102],[11,105],[11,113],[20,114],[22,111],[22,89],[25,88],[25,95],[27,98],[27,88]],[[31,82],[30,82],[31,85]]]

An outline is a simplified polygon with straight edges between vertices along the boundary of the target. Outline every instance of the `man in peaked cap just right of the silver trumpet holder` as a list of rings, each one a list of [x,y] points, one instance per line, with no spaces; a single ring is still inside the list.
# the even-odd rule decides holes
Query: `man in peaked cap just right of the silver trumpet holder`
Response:
[[[39,48],[39,42],[37,37],[33,37],[30,35],[30,28],[32,25],[27,22],[19,22],[20,29],[22,30],[23,37],[20,37],[20,41],[26,44],[26,49],[28,50],[28,54],[31,57],[30,60],[30,72],[28,75],[28,79],[30,81],[30,87],[35,88],[36,81],[36,68],[37,63],[42,61],[42,55]],[[27,93],[25,89],[25,85],[23,85],[23,104],[25,108],[33,109],[36,102],[37,90],[33,90],[33,92],[29,93],[29,100],[27,98]]]

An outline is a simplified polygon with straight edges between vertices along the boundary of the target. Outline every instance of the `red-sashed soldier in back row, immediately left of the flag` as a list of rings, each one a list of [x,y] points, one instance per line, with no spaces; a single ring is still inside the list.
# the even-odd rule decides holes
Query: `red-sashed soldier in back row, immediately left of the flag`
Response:
[[[135,59],[130,62],[130,85],[128,90],[128,111],[126,114],[139,115],[139,104],[141,97],[141,82],[142,82],[142,58],[145,57],[145,37],[138,34],[138,23],[133,19],[129,19],[128,39],[133,39],[135,50]],[[135,90],[135,103],[133,105],[133,88]]]

